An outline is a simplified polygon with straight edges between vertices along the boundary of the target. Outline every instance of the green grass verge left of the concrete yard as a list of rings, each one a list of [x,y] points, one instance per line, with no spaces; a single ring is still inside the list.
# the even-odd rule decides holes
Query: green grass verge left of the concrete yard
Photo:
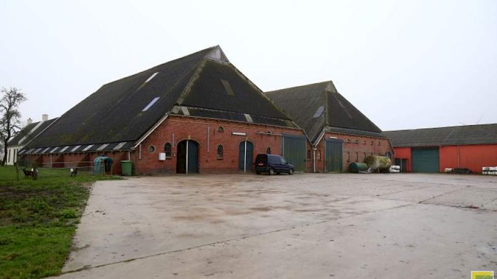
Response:
[[[120,179],[67,169],[40,169],[38,180],[15,180],[0,167],[0,278],[40,278],[60,273],[89,196],[91,182]]]

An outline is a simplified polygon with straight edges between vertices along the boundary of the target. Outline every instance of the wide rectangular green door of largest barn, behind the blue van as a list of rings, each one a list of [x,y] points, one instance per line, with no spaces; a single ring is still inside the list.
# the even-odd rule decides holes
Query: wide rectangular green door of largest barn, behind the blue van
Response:
[[[283,135],[283,157],[294,166],[295,171],[305,171],[306,143],[304,135]]]

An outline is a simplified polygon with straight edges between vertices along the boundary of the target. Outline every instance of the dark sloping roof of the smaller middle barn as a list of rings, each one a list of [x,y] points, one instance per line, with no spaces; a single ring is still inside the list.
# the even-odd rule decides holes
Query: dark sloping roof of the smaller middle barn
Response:
[[[323,130],[342,129],[360,135],[382,136],[382,131],[344,96],[331,81],[266,92],[315,142]]]

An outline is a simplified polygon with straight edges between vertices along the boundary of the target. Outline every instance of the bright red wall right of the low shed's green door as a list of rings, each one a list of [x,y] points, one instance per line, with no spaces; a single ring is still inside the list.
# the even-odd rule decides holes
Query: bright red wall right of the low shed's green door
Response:
[[[497,166],[497,145],[440,147],[441,172],[446,167],[467,167],[473,172],[481,173],[484,166]]]

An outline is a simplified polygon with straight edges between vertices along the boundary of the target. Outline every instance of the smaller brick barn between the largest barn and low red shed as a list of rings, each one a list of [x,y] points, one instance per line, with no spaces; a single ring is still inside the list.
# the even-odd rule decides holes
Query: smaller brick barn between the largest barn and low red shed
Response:
[[[340,172],[369,155],[392,157],[392,146],[382,130],[338,93],[331,81],[266,95],[304,128],[310,141],[307,169]]]

